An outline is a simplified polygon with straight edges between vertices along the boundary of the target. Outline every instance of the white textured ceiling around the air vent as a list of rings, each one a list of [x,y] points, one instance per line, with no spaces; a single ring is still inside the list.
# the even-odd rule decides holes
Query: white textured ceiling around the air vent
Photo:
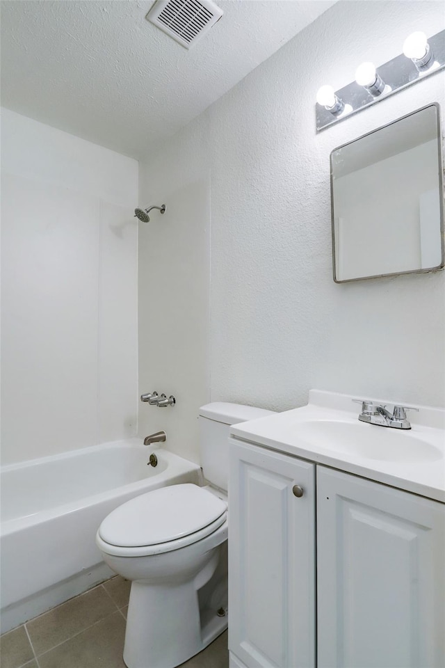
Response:
[[[232,88],[332,0],[217,0],[188,51],[145,20],[152,1],[1,2],[1,103],[136,158]]]

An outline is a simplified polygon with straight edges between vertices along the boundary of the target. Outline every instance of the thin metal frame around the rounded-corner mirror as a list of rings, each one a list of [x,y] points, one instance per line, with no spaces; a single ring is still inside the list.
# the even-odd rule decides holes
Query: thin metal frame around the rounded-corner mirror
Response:
[[[428,269],[410,269],[409,271],[395,271],[394,273],[377,273],[373,276],[360,276],[359,278],[344,278],[343,280],[340,280],[337,278],[336,273],[335,273],[335,237],[334,237],[334,175],[333,175],[333,168],[332,168],[332,156],[333,154],[340,150],[341,148],[345,148],[346,146],[349,146],[350,144],[353,144],[355,141],[359,141],[360,139],[363,139],[364,137],[369,136],[370,134],[374,134],[374,132],[379,132],[379,130],[382,130],[385,127],[389,127],[389,125],[394,125],[394,123],[398,123],[400,120],[403,120],[404,118],[408,118],[409,116],[412,116],[413,113],[418,113],[419,111],[423,111],[424,109],[429,109],[431,106],[434,106],[436,108],[436,120],[437,120],[437,152],[438,152],[438,160],[439,160],[439,210],[440,210],[440,244],[441,244],[441,255],[442,255],[442,261],[441,264],[438,264],[437,267],[429,267]],[[335,283],[353,283],[353,281],[356,280],[369,280],[370,278],[382,278],[384,276],[403,276],[405,273],[428,273],[430,271],[438,271],[439,269],[443,269],[445,265],[445,247],[444,247],[444,183],[443,183],[443,178],[442,178],[442,173],[444,170],[444,164],[442,162],[442,134],[441,134],[441,126],[440,126],[440,105],[439,102],[430,102],[430,104],[426,104],[425,106],[421,106],[420,109],[414,109],[414,111],[411,111],[410,113],[406,113],[405,116],[401,116],[400,118],[396,118],[396,120],[391,120],[391,122],[386,123],[385,125],[381,125],[380,127],[371,130],[371,132],[366,132],[365,134],[360,135],[359,137],[353,139],[352,141],[348,141],[344,144],[341,144],[341,146],[337,146],[337,148],[334,148],[331,151],[330,154],[330,185],[331,185],[331,225],[332,225],[332,272],[333,272],[333,278]]]

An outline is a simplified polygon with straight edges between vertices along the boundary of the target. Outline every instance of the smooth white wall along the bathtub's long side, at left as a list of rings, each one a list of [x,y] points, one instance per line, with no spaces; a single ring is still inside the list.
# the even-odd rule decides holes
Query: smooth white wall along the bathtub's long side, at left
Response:
[[[2,461],[137,429],[138,163],[2,111]]]

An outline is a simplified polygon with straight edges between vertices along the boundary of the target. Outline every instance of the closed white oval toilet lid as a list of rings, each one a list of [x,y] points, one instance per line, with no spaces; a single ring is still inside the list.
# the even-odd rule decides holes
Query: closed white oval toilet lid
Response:
[[[99,536],[111,545],[157,545],[188,536],[223,516],[227,504],[193,484],[172,485],[141,494],[111,512]]]

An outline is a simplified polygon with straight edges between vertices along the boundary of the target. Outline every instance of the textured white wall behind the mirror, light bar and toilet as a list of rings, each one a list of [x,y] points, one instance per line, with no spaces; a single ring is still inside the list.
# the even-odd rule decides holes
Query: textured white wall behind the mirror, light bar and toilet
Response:
[[[329,180],[333,148],[428,102],[444,122],[444,73],[315,132],[319,86],[341,88],[419,29],[444,29],[441,2],[339,2],[147,156],[143,203],[177,209],[140,244],[140,390],[179,402],[162,415],[142,406],[141,435],[164,428],[173,450],[197,459],[195,415],[209,398],[283,410],[322,388],[444,404],[444,272],[336,285]],[[184,214],[190,184],[202,187]]]

